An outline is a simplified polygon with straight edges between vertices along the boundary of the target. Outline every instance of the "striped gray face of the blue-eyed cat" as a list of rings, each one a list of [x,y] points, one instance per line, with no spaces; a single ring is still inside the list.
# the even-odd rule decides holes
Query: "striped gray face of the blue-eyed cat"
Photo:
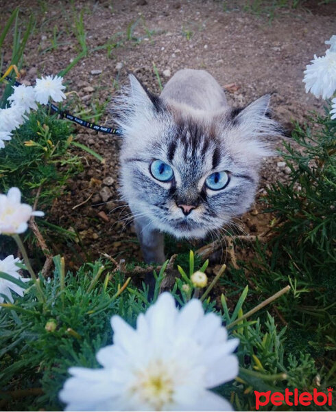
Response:
[[[258,110],[264,117],[268,99],[254,103],[262,108],[252,104],[206,118],[180,113],[146,93],[141,99],[139,105],[139,95],[126,100],[131,106],[119,121],[125,130],[121,192],[134,215],[177,238],[202,238],[246,211],[267,155],[260,141],[249,139],[248,129],[256,125],[247,122]]]

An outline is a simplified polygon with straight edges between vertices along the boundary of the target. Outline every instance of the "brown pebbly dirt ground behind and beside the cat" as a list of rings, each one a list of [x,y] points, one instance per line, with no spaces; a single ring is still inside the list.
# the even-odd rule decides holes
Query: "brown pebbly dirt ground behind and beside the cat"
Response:
[[[324,41],[336,34],[336,3],[307,1],[296,10],[277,10],[274,19],[263,9],[247,10],[246,3],[75,0],[72,5],[68,1],[1,0],[0,27],[16,6],[21,8],[23,21],[30,14],[36,16],[22,72],[23,82],[31,84],[37,75],[58,73],[77,56],[80,47],[73,32],[74,16],[80,18],[83,13],[90,52],[65,76],[67,91],[77,93],[72,95],[71,113],[109,100],[127,84],[128,70],[159,93],[154,65],[163,85],[178,69],[189,67],[209,71],[226,87],[233,106],[272,93],[274,116],[290,130],[292,119],[302,124],[309,111],[322,110],[322,100],[304,92],[302,78],[309,60],[314,54],[324,54]],[[99,49],[106,43],[117,43],[117,47]],[[10,56],[9,47],[4,50],[4,66]],[[103,115],[99,124],[106,124],[107,118]],[[129,209],[119,201],[120,138],[80,126],[76,130],[77,141],[99,153],[106,163],[101,165],[80,152],[86,158],[84,171],[64,187],[64,195],[56,199],[46,218],[79,233],[81,242],[75,248],[82,260],[100,253],[141,260]],[[239,222],[243,233],[256,235],[267,229],[270,216],[260,213],[265,187],[285,181],[288,172],[279,156],[265,161],[256,204]],[[53,245],[56,253],[60,247]]]

